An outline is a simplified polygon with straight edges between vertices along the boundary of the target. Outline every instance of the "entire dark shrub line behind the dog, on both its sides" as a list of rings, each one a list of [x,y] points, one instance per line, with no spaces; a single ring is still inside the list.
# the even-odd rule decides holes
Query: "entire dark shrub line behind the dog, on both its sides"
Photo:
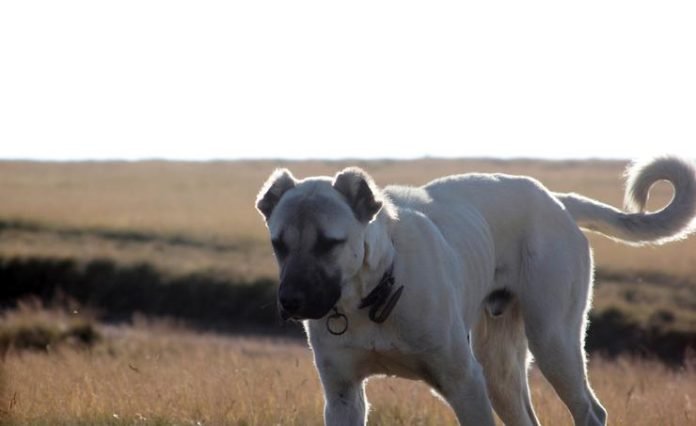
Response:
[[[147,264],[0,259],[0,307],[13,307],[28,296],[50,304],[67,295],[107,321],[129,321],[138,312],[205,329],[301,336],[299,326],[280,323],[275,289],[271,279],[231,282],[213,274],[168,278]],[[696,353],[696,332],[645,328],[609,309],[590,315],[587,348],[610,357],[630,354],[682,365],[689,352]]]

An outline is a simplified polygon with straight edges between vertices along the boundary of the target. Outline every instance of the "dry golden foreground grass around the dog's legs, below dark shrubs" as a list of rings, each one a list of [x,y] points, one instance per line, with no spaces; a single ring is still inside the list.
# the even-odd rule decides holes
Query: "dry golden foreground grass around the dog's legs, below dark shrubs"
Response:
[[[196,335],[159,326],[110,328],[91,351],[9,353],[0,412],[7,424],[319,425],[322,397],[309,350],[294,341]],[[612,425],[696,422],[696,370],[645,361],[590,363]],[[537,370],[543,424],[570,417]],[[371,424],[455,424],[421,383],[372,379]]]

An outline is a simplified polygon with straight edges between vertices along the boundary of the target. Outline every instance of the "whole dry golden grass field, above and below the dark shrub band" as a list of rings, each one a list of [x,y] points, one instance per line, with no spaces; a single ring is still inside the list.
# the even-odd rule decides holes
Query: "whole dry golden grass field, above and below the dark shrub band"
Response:
[[[289,167],[297,177],[305,177],[334,174],[354,164],[368,170],[380,185],[423,184],[441,175],[471,171],[525,174],[553,191],[578,192],[615,206],[622,202],[621,174],[626,165],[435,159],[0,162],[0,269],[16,260],[31,266],[55,259],[58,266],[74,262],[60,277],[72,279],[80,265],[88,265],[89,273],[96,263],[101,265],[98,271],[111,271],[96,278],[97,284],[105,281],[104,291],[148,277],[148,282],[162,287],[143,287],[148,291],[142,294],[170,291],[172,283],[181,284],[183,293],[174,296],[183,295],[184,304],[191,291],[201,288],[196,287],[201,277],[214,277],[215,283],[224,285],[275,279],[266,230],[253,207],[261,184],[276,167]],[[650,208],[660,208],[669,201],[671,188],[657,185],[651,195]],[[591,236],[591,242],[598,266],[594,312],[618,311],[621,318],[648,331],[696,331],[696,238],[646,248],[621,246],[599,236]],[[26,276],[50,280],[42,275],[46,271],[53,269]],[[138,292],[137,286],[128,288]],[[117,296],[137,295],[111,297]],[[17,330],[13,324],[33,324],[42,318],[48,318],[44,323],[67,324],[48,331],[39,327],[43,337],[56,339],[48,350],[10,345],[2,351],[0,416],[6,424],[321,423],[319,384],[301,342],[193,333],[135,314],[131,326],[95,323],[103,338],[85,347],[74,344],[76,339],[67,331],[71,321],[80,319],[69,312],[74,309],[81,317],[96,308],[67,299],[58,305],[69,308],[68,314],[3,311],[4,330]],[[91,299],[87,295],[84,300]],[[102,318],[98,309],[83,319],[95,318]],[[696,424],[693,359],[686,367],[673,369],[645,360],[609,361],[595,355],[590,371],[610,424]],[[532,382],[543,423],[569,424],[562,404],[536,370]],[[368,394],[373,424],[454,422],[449,408],[419,383],[375,379]]]

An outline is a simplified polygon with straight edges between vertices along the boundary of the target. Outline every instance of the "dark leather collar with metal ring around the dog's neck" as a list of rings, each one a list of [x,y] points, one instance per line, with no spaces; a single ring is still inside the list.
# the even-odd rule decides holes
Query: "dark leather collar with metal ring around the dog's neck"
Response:
[[[395,282],[394,264],[392,264],[382,275],[379,284],[360,301],[358,309],[369,307],[368,316],[377,324],[386,321],[404,290],[403,285],[394,290]],[[348,317],[334,307],[334,313],[326,318],[326,328],[333,335],[341,335],[348,330]]]

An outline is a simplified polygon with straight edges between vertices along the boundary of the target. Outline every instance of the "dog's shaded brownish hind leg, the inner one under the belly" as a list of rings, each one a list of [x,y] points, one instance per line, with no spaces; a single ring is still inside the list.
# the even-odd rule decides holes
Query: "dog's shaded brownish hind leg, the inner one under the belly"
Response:
[[[495,318],[483,312],[472,345],[498,417],[508,426],[538,425],[529,396],[527,338],[517,301],[510,301]]]

